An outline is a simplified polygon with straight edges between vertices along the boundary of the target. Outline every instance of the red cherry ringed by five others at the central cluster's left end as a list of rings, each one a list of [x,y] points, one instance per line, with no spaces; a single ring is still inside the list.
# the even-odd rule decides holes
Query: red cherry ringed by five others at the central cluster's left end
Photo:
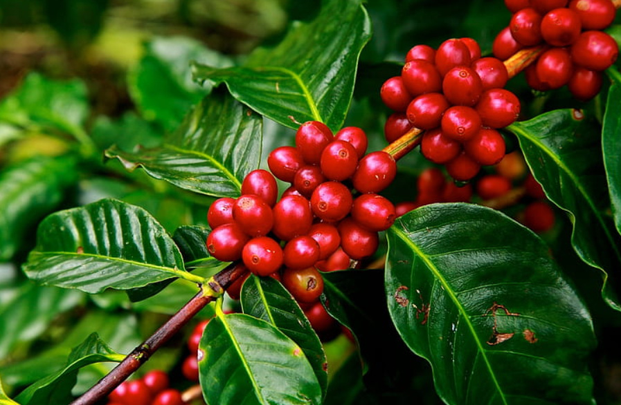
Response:
[[[233,205],[233,219],[249,236],[262,236],[271,231],[274,217],[269,205],[253,194],[240,196]]]

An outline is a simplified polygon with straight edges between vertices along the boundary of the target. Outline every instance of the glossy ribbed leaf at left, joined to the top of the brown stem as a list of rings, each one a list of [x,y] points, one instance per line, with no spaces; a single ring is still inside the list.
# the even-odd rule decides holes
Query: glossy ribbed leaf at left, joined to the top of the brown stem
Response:
[[[145,209],[105,199],[48,216],[24,265],[39,283],[97,293],[181,277],[181,253]]]

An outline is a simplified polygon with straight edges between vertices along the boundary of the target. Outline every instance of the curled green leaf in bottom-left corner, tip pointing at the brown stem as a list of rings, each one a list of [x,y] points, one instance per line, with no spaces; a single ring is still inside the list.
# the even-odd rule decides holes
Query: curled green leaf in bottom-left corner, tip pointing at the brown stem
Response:
[[[93,333],[71,351],[62,370],[29,386],[15,399],[23,405],[68,404],[73,399],[71,388],[75,385],[80,368],[102,361],[120,362],[123,357],[111,350],[96,333]]]

